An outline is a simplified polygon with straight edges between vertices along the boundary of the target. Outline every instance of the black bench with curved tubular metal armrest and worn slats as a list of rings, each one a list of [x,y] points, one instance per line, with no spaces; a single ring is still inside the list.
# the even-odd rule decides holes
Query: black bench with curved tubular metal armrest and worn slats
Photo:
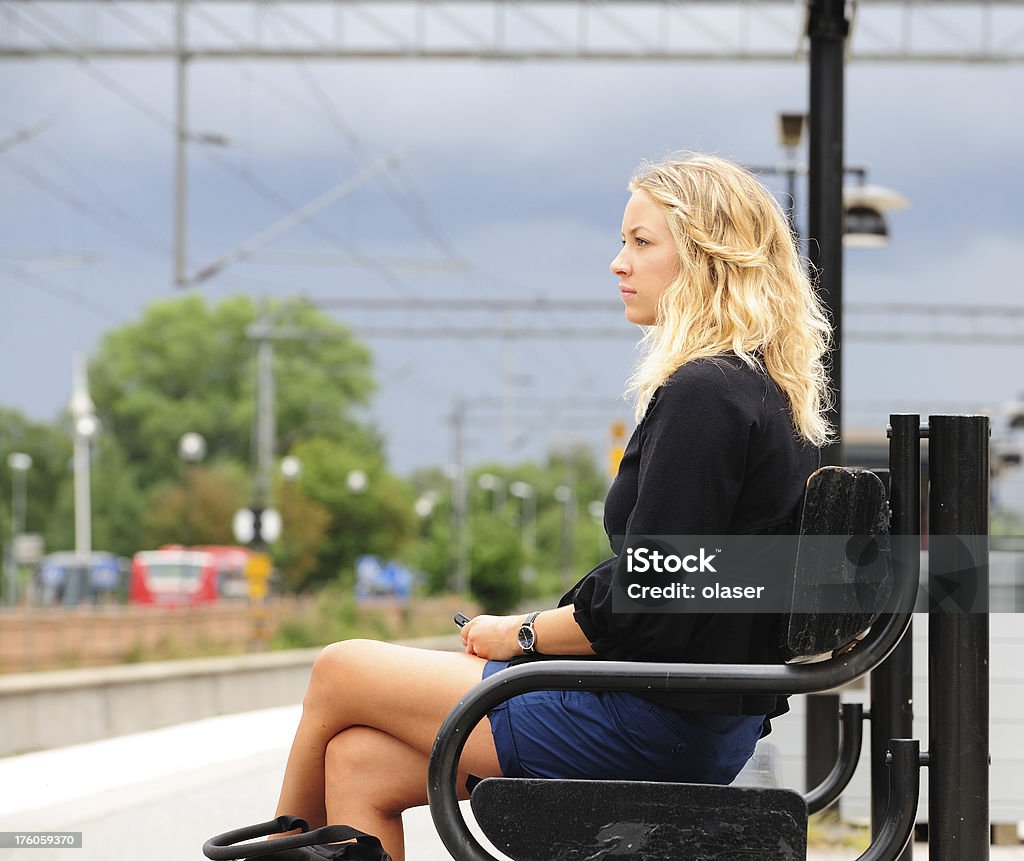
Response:
[[[453,857],[494,859],[462,817],[456,766],[469,732],[510,697],[542,689],[813,693],[881,663],[906,632],[918,591],[914,578],[891,575],[890,554],[911,549],[890,547],[888,519],[886,489],[873,473],[824,467],[808,479],[793,577],[793,607],[799,611],[785,619],[780,656],[793,661],[830,653],[823,660],[784,665],[546,660],[510,668],[477,685],[442,724],[428,775],[431,815]],[[821,535],[851,539],[815,541]],[[886,576],[879,576],[880,570]],[[818,606],[821,611],[809,611]],[[879,840],[861,856],[865,861],[897,857],[912,831],[918,742],[893,741],[890,749],[890,811]],[[852,772],[849,749],[837,772],[845,772],[846,779]],[[828,794],[818,792],[814,801],[823,806]],[[515,861],[799,861],[807,854],[808,799],[790,789],[488,778],[473,789],[471,805],[484,834]]]

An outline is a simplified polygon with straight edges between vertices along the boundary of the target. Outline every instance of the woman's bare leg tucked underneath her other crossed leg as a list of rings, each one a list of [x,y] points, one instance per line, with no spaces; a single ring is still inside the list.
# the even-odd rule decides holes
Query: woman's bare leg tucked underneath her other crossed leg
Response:
[[[394,861],[404,859],[401,812],[427,803],[430,758],[370,727],[338,733],[327,747],[327,818],[381,838]],[[459,774],[459,798],[469,798]]]

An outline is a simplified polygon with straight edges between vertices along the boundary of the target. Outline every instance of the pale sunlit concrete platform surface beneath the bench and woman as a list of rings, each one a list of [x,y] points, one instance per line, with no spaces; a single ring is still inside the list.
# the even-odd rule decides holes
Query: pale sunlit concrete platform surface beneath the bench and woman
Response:
[[[0,759],[0,830],[74,830],[83,840],[80,850],[7,849],[0,858],[201,861],[211,834],[272,816],[298,718],[298,706],[268,708]],[[449,861],[426,808],[407,814],[406,833],[408,861]],[[927,857],[918,845],[914,858]],[[992,847],[991,858],[1024,861],[1024,847]]]

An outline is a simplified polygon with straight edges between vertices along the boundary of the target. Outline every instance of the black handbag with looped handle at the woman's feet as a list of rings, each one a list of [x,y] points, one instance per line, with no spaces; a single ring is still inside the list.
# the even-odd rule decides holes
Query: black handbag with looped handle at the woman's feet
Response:
[[[283,834],[301,828],[275,841],[245,843],[270,834]],[[351,841],[355,843],[339,843]],[[348,825],[325,825],[309,830],[309,823],[298,816],[279,816],[258,825],[247,825],[210,837],[203,844],[203,854],[211,861],[243,861],[262,858],[265,861],[391,861],[380,840]]]

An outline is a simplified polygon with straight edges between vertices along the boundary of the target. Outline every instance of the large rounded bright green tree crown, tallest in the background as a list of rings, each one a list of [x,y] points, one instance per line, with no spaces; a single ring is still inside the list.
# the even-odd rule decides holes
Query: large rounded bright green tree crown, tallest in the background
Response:
[[[358,438],[351,416],[373,390],[370,353],[343,326],[301,299],[271,304],[278,446]],[[180,469],[177,443],[196,431],[208,457],[250,463],[256,365],[248,297],[209,306],[198,295],[151,305],[138,322],[109,332],[89,367],[96,412],[150,487]],[[280,336],[280,337],[279,337]]]

